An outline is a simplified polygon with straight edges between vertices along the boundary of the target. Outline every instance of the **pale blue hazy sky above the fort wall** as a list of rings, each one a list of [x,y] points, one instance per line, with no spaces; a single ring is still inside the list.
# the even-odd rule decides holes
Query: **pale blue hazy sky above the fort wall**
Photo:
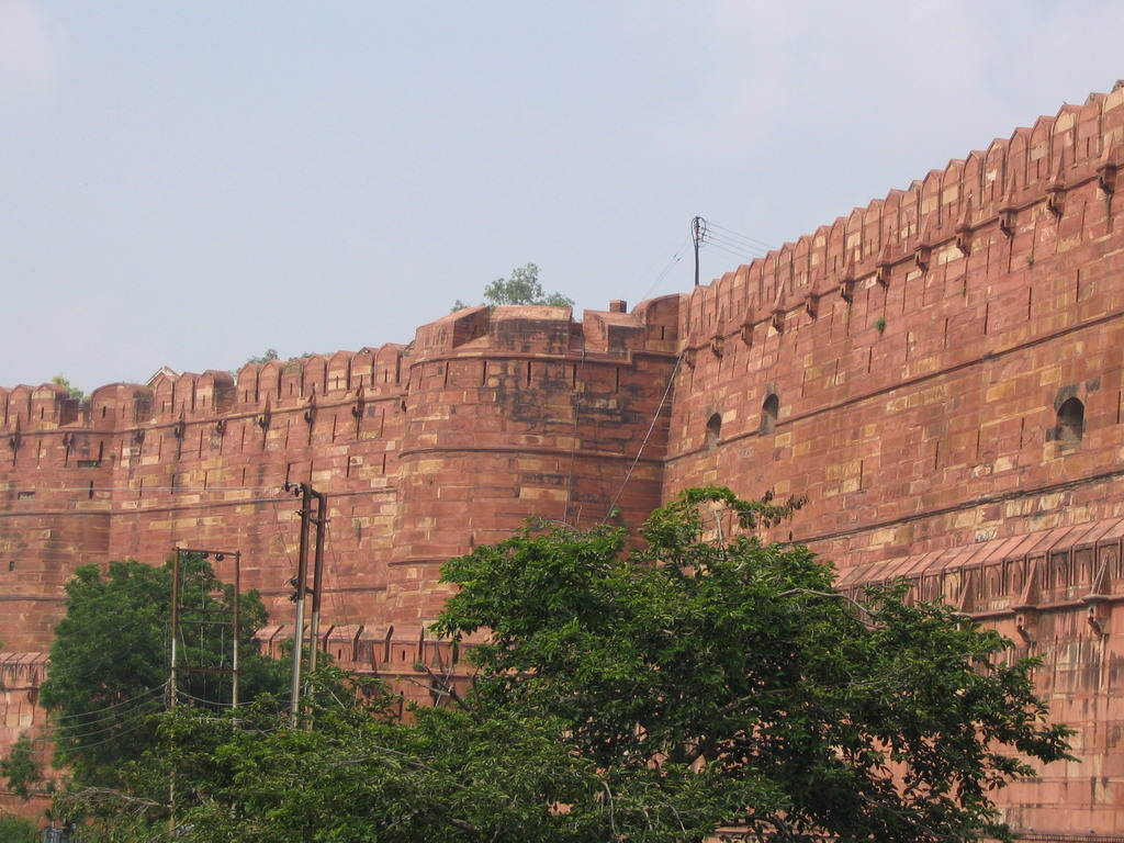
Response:
[[[0,0],[0,384],[406,343],[528,261],[579,318],[687,291],[695,215],[734,233],[707,281],[1111,90],[1122,33],[1093,0]]]

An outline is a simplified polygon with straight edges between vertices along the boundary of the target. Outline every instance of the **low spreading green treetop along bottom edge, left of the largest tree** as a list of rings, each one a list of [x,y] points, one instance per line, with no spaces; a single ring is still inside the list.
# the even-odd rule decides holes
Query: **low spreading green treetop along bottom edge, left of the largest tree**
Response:
[[[321,672],[315,687],[333,685]],[[174,770],[178,823],[201,843],[602,843],[641,827],[632,839],[672,843],[713,810],[709,777],[682,771],[659,803],[653,783],[667,773],[655,769],[611,804],[598,798],[604,777],[561,720],[442,707],[404,723],[388,716],[390,700],[317,692],[310,731],[264,701],[219,717],[183,706],[163,717],[164,743],[135,768],[129,794],[88,792],[67,807],[108,839],[151,840]]]

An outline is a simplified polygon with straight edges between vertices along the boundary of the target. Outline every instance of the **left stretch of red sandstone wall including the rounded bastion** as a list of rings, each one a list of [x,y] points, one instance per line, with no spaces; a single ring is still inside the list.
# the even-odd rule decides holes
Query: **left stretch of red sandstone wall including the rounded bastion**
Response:
[[[53,384],[0,390],[0,641],[46,650],[78,564],[155,563],[178,544],[242,551],[243,582],[285,617],[298,525],[282,487],[307,481],[330,501],[330,622],[416,644],[451,555],[533,515],[591,524],[614,499],[633,519],[658,505],[665,430],[642,443],[642,419],[670,377],[679,303],[580,324],[569,309],[471,308],[411,346],[237,379],[165,372],[83,405]]]

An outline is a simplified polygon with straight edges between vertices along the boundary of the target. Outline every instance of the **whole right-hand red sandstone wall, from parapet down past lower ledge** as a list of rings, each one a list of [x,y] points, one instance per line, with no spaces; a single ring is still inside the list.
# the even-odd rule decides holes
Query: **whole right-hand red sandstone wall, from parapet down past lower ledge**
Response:
[[[776,537],[906,575],[1044,659],[1082,761],[1024,827],[1121,833],[1124,90],[699,288],[664,497],[804,493]],[[1124,185],[1122,185],[1124,187]]]

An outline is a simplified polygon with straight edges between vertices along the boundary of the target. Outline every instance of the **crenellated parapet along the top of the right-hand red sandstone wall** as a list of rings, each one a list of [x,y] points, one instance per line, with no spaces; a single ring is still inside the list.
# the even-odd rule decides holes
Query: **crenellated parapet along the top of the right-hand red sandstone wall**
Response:
[[[992,232],[1010,241],[1037,225],[1057,226],[1067,207],[1079,212],[1079,202],[1111,205],[1122,167],[1124,85],[1117,83],[697,288],[681,330],[698,348],[715,339],[752,342],[754,333],[760,339],[837,300],[850,303],[871,281],[900,283],[915,270],[961,260]]]

